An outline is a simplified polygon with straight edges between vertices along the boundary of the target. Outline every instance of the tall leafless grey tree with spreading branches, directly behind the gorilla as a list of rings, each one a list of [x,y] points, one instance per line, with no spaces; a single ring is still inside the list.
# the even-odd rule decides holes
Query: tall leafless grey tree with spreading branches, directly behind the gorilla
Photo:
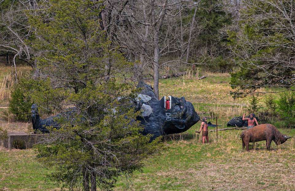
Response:
[[[138,0],[125,4],[121,20],[117,23],[117,33],[113,39],[123,48],[123,52],[133,55],[140,63],[135,67],[139,79],[144,70],[153,70],[154,91],[159,96],[159,69],[171,63],[187,63],[184,53],[187,42],[183,39],[188,32],[193,35],[194,25],[179,30],[182,12],[190,13],[197,3],[191,0],[156,1]],[[194,17],[193,17],[194,18]],[[192,19],[191,22],[195,22]],[[190,48],[186,50],[187,54]],[[132,53],[132,54],[130,54]],[[175,57],[171,61],[163,58]],[[141,77],[142,78],[142,77]]]

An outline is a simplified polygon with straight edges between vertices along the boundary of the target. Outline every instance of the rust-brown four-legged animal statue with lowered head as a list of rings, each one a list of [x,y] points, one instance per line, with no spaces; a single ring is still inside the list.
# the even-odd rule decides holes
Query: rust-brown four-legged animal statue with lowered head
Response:
[[[249,143],[255,143],[258,141],[266,140],[266,148],[270,149],[271,141],[274,141],[276,145],[285,143],[285,141],[291,136],[283,135],[272,124],[260,124],[241,133],[243,148],[246,146],[246,150],[249,151]]]

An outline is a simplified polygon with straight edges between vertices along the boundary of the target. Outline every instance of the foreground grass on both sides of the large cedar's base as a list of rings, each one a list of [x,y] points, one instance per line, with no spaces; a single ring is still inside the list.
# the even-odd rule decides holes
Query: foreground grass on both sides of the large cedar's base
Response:
[[[272,143],[271,151],[265,150],[265,141],[256,143],[255,150],[251,144],[246,152],[240,130],[221,131],[218,141],[210,132],[211,143],[202,144],[197,128],[164,140],[161,155],[145,161],[142,172],[129,181],[120,179],[115,190],[294,190],[293,138],[280,146]],[[295,136],[295,129],[280,131]],[[0,190],[56,190],[48,174],[33,149],[0,151]]]

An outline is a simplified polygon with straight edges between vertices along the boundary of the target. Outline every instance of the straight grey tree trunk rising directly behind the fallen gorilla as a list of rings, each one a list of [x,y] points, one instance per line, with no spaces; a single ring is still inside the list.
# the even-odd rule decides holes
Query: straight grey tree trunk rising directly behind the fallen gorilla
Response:
[[[154,36],[154,92],[159,99],[159,33],[155,32]]]

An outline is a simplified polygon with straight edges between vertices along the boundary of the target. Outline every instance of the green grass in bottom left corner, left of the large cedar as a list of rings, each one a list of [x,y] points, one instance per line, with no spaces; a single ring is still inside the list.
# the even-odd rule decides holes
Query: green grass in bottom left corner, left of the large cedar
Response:
[[[49,190],[50,171],[36,161],[33,149],[0,150],[0,190]]]

